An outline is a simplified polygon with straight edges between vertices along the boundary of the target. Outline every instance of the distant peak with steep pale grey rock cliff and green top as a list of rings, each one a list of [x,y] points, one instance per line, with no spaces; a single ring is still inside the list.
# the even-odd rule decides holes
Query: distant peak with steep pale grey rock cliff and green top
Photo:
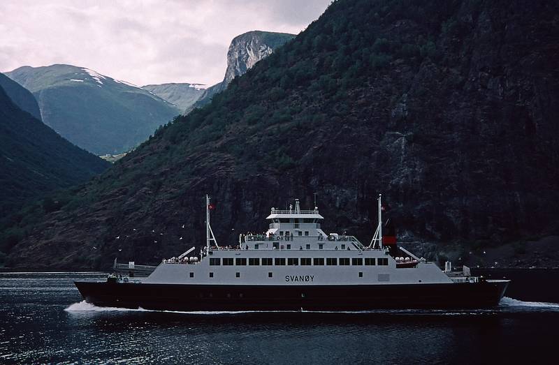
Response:
[[[235,77],[244,75],[256,62],[268,57],[277,47],[284,45],[294,37],[294,34],[289,33],[249,31],[233,38],[227,51],[227,69],[223,81],[205,89],[193,106],[201,107],[210,103],[213,96],[224,91]],[[187,107],[185,110],[188,113],[192,107]]]

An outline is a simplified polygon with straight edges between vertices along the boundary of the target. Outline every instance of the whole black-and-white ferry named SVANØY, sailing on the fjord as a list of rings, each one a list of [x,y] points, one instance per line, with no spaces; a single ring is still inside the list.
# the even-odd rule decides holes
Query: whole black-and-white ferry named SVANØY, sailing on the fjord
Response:
[[[206,245],[163,260],[145,278],[75,281],[96,306],[165,311],[366,311],[377,308],[486,308],[509,281],[450,274],[383,236],[382,197],[370,244],[321,230],[319,209],[272,208],[268,230],[219,246],[206,195]]]

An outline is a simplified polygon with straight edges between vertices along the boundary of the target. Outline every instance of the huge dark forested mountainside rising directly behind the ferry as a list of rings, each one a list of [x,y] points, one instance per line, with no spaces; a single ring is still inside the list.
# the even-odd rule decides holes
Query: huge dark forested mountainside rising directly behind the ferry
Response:
[[[463,262],[557,235],[557,14],[556,1],[335,1],[59,211],[27,207],[4,228],[26,232],[8,263],[161,262],[205,244],[205,193],[221,245],[313,193],[326,232],[367,244],[382,193],[400,241],[459,244]]]

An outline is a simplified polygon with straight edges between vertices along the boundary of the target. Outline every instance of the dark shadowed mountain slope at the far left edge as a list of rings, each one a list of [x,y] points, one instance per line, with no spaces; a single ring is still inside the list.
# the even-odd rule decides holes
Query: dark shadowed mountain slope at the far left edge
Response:
[[[0,74],[0,80],[3,77]],[[10,87],[10,94],[31,96],[20,85]],[[29,100],[24,104],[32,105]],[[20,109],[0,87],[1,219],[27,200],[79,184],[109,165]]]

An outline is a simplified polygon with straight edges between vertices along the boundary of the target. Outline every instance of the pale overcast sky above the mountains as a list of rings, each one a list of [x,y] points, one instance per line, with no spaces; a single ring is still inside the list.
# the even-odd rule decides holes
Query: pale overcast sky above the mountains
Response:
[[[71,64],[133,84],[212,85],[231,39],[299,33],[331,0],[0,0],[0,71]]]

